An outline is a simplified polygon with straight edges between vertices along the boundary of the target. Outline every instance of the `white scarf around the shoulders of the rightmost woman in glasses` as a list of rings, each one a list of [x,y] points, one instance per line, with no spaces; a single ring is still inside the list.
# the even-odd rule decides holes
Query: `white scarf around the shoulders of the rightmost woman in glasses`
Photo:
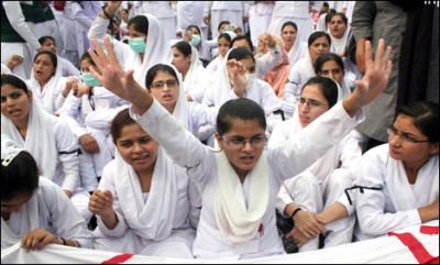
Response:
[[[396,211],[431,203],[439,198],[439,155],[430,157],[420,168],[414,188],[408,183],[402,161],[393,159],[388,155],[385,184]],[[403,195],[405,199],[403,199]]]

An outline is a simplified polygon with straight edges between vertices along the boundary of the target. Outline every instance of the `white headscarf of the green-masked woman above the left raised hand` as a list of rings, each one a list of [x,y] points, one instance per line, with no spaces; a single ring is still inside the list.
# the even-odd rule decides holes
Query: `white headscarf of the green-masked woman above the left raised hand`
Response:
[[[131,51],[125,64],[125,70],[135,69],[134,79],[144,85],[146,71],[156,64],[167,64],[173,59],[170,47],[166,41],[164,27],[160,23],[156,16],[152,14],[139,14],[144,15],[148,20],[148,35],[146,40],[146,48],[144,53],[144,59],[141,68],[141,56],[138,53]]]

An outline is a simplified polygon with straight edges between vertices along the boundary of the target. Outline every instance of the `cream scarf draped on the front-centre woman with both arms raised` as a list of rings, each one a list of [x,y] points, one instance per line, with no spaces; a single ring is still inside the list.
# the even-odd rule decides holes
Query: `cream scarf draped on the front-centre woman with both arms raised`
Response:
[[[268,203],[268,168],[265,152],[246,180],[250,181],[248,207],[242,184],[224,152],[217,154],[219,178],[215,198],[215,216],[220,233],[231,243],[253,240]]]

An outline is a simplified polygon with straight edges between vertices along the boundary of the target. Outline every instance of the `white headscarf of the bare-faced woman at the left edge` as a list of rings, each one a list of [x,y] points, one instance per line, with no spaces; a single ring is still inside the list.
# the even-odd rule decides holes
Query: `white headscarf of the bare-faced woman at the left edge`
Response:
[[[20,78],[16,75],[13,75]],[[24,81],[22,78],[20,78]],[[24,82],[25,84],[25,82]],[[26,84],[28,90],[32,91]],[[41,175],[53,179],[58,153],[56,150],[55,137],[51,128],[51,115],[32,95],[31,108],[29,111],[26,139],[23,140],[13,122],[1,113],[1,132],[8,134],[18,145],[29,151],[35,158],[41,170]]]

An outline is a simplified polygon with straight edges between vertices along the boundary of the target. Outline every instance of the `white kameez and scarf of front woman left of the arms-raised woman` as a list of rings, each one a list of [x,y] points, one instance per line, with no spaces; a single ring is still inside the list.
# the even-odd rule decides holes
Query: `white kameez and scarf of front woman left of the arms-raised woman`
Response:
[[[103,168],[98,189],[112,192],[118,224],[109,230],[98,216],[95,249],[193,258],[196,231],[188,219],[188,185],[185,168],[178,167],[158,147],[150,194],[144,199],[139,176],[117,154]]]

